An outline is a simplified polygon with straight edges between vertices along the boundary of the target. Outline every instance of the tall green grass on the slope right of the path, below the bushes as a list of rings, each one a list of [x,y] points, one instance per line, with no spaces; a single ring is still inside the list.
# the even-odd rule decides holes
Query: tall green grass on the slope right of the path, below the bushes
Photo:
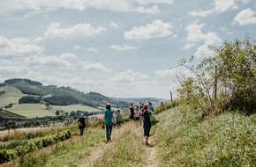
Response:
[[[255,166],[255,116],[223,113],[202,121],[200,112],[159,115],[155,141],[165,166]]]

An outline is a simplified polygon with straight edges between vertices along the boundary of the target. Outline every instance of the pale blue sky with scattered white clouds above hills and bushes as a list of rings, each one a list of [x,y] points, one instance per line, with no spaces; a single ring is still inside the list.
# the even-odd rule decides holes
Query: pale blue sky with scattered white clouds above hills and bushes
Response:
[[[253,40],[255,0],[1,0],[0,83],[43,85],[114,98],[176,96],[182,58]]]

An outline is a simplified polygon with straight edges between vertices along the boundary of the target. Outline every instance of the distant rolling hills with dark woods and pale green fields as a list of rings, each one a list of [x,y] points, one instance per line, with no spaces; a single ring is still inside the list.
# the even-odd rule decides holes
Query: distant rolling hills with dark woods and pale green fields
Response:
[[[109,98],[97,92],[84,93],[71,87],[43,85],[30,79],[13,78],[0,84],[0,108],[11,113],[21,114],[26,118],[54,116],[56,110],[99,112],[110,104],[113,108],[129,107],[129,102],[148,101],[158,105],[159,98]],[[46,105],[50,107],[47,108]],[[47,108],[47,109],[46,109]]]

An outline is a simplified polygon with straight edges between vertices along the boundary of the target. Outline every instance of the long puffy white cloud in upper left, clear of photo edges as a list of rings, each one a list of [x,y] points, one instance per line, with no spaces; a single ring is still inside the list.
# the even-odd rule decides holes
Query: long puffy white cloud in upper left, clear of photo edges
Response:
[[[51,23],[44,36],[50,39],[61,37],[84,36],[89,37],[106,31],[102,26],[93,27],[91,24],[78,24],[70,28],[60,28],[60,23]]]

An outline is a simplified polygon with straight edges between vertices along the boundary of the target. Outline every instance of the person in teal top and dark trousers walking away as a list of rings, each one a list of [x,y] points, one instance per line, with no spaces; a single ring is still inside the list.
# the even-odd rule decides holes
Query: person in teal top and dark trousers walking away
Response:
[[[106,105],[106,110],[104,111],[104,124],[106,126],[106,138],[107,141],[111,141],[112,127],[114,124],[114,116],[111,110],[111,105]]]

